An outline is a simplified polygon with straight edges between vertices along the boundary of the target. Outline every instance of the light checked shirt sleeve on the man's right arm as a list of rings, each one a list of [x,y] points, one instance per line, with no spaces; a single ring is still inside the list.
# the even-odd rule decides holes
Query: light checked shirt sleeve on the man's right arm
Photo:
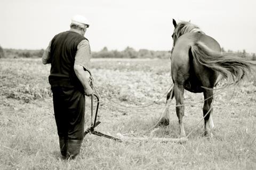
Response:
[[[89,70],[90,59],[91,59],[91,47],[90,47],[89,41],[87,41],[87,39],[84,39],[77,46],[75,64],[83,66],[85,69]]]

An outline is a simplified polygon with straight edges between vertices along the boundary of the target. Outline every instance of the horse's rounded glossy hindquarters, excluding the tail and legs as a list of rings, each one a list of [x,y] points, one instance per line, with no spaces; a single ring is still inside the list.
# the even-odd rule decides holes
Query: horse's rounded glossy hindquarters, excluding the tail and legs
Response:
[[[207,68],[195,59],[195,51],[192,49],[194,49],[194,44],[197,44],[198,42],[204,42],[204,44],[207,44],[207,47],[212,51],[220,51],[219,43],[212,37],[201,33],[189,33],[178,39],[174,46],[172,56],[172,67],[175,67],[178,70],[172,70],[174,81],[180,81],[181,78],[184,78],[184,88],[193,93],[202,93],[202,86],[213,86],[218,77],[217,72]],[[176,76],[175,72],[179,72],[180,70],[182,70],[181,72],[183,75],[188,76]],[[210,81],[208,80],[208,77],[211,77]]]

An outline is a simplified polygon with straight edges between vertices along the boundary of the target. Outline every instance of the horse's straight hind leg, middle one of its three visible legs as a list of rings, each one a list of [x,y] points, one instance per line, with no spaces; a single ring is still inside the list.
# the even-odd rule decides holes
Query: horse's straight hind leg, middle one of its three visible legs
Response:
[[[176,114],[179,118],[179,132],[180,137],[185,137],[186,133],[183,127],[182,118],[184,116],[184,109],[183,106],[183,93],[184,93],[184,87],[183,85],[178,85],[177,83],[174,84],[174,96],[176,100]],[[181,106],[182,105],[182,106]]]

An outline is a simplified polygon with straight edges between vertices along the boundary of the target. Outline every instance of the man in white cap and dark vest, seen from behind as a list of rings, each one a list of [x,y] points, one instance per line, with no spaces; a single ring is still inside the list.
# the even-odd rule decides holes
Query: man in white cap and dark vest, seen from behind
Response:
[[[85,95],[92,95],[88,63],[89,41],[84,37],[88,20],[75,15],[70,30],[55,35],[46,48],[43,64],[51,63],[49,83],[62,158],[74,159],[83,141]]]

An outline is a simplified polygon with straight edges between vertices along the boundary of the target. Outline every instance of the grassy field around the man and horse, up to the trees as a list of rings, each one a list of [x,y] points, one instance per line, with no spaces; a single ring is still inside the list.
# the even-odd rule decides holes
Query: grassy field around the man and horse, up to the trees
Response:
[[[94,59],[91,65],[99,91],[125,106],[156,101],[172,82],[169,60]],[[81,157],[63,161],[47,81],[49,71],[50,66],[41,64],[40,59],[0,59],[0,169],[256,168],[255,73],[241,85],[215,96],[212,139],[202,136],[203,122],[195,127],[203,117],[201,102],[185,107],[186,133],[196,128],[186,143],[118,143],[87,135]],[[151,108],[164,107],[164,98]],[[202,94],[185,93],[186,103],[202,100]],[[88,98],[87,123],[89,101]],[[111,103],[106,98],[102,101]],[[101,124],[97,129],[114,136],[149,136],[149,128],[162,112],[163,109],[121,110],[101,103]],[[156,131],[155,137],[178,137],[175,108],[170,112],[170,125]]]

